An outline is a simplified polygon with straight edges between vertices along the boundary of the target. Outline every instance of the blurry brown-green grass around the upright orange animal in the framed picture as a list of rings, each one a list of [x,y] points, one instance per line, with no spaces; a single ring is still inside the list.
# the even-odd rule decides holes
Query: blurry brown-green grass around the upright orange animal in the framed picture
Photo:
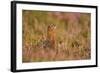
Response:
[[[89,13],[23,10],[22,14],[23,62],[91,58]],[[50,24],[56,26],[55,49],[48,47],[47,28]]]

